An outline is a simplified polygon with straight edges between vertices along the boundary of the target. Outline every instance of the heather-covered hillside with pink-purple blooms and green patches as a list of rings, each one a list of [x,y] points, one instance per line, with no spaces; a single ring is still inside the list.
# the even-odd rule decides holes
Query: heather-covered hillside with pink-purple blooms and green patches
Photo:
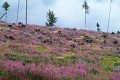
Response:
[[[119,80],[120,35],[0,21],[0,80]]]

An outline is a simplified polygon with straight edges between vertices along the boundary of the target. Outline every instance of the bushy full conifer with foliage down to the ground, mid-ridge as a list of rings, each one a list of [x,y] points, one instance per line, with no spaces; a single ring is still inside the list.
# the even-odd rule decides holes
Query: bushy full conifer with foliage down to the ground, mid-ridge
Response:
[[[47,13],[47,21],[46,26],[54,26],[54,23],[57,22],[57,17],[55,17],[55,14],[53,11],[50,11]]]

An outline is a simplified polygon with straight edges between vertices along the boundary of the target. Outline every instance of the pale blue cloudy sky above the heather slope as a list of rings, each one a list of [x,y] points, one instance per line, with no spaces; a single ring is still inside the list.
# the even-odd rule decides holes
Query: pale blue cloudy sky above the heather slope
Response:
[[[0,0],[0,16],[5,11],[3,3],[7,1],[11,6],[8,10],[8,21],[16,22],[18,0]],[[108,15],[111,0],[86,0],[90,7],[87,14],[87,30],[97,30],[97,22],[102,31],[106,32],[108,27]],[[85,29],[85,13],[82,9],[84,0],[28,0],[28,23],[45,25],[48,10],[54,12],[58,17],[57,27]],[[20,0],[18,22],[25,23],[26,0]],[[112,1],[109,32],[120,31],[120,0]],[[5,20],[5,17],[2,18]]]

